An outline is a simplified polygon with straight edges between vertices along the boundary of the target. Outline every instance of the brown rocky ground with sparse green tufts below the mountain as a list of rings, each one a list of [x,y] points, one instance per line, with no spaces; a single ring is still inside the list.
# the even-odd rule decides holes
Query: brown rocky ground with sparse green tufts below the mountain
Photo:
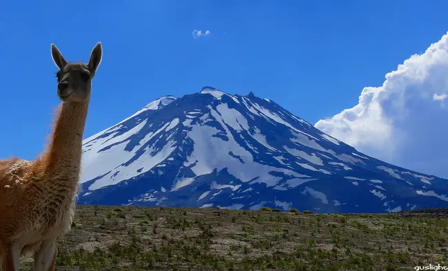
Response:
[[[57,270],[415,270],[448,266],[448,210],[312,214],[78,205]],[[445,261],[445,262],[444,262]],[[21,270],[31,270],[30,259]]]

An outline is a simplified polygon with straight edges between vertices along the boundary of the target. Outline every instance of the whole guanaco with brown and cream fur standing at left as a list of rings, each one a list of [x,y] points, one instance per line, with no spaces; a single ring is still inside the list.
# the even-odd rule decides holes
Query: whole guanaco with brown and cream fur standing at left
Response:
[[[47,150],[35,161],[0,161],[0,271],[19,270],[19,257],[27,252],[34,252],[34,270],[54,270],[56,239],[70,230],[74,215],[91,81],[101,55],[98,43],[88,65],[68,63],[52,45],[63,103]],[[68,87],[60,89],[64,83]]]

